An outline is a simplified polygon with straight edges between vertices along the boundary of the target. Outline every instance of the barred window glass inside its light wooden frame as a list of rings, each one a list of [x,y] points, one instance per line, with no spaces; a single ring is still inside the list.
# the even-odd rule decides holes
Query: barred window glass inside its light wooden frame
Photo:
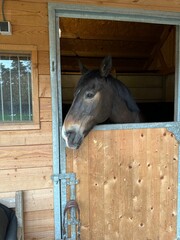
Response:
[[[32,121],[30,55],[0,56],[0,121]]]

